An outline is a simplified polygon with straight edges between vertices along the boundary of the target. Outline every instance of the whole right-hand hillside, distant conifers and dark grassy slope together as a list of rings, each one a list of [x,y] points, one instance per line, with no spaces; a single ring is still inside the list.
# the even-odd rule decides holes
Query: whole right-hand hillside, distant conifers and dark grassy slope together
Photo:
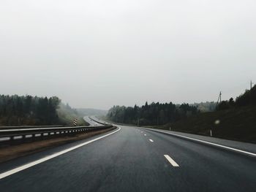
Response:
[[[217,104],[155,104],[112,107],[107,117],[116,123],[163,128],[191,134],[256,143],[256,85],[235,100]],[[218,122],[218,123],[216,123]]]

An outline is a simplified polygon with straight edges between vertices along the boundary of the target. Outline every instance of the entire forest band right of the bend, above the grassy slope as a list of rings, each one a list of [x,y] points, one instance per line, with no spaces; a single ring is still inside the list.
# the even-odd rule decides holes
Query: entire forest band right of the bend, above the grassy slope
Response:
[[[142,107],[114,106],[108,111],[107,118],[116,123],[127,123],[138,126],[158,126],[185,120],[203,112],[230,110],[256,104],[256,85],[251,90],[246,90],[235,99],[227,101],[206,102],[199,104],[144,104]]]

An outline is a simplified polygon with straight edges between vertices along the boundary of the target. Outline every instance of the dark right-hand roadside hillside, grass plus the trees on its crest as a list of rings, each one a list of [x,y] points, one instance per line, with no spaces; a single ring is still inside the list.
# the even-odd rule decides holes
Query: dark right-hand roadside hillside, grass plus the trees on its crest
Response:
[[[256,85],[235,101],[233,98],[222,101],[214,112],[198,113],[161,126],[170,127],[173,131],[203,135],[209,135],[211,129],[214,137],[256,143]]]

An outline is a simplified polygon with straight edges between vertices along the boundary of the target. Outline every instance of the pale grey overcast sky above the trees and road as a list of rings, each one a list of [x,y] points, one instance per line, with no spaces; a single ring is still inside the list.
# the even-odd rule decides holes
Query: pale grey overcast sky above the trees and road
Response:
[[[72,107],[236,97],[256,82],[255,0],[1,0],[0,93]]]

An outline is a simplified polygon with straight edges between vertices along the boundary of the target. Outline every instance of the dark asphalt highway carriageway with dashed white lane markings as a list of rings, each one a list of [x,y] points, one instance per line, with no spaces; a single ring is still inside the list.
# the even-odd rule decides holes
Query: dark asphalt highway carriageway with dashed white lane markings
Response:
[[[256,191],[252,155],[118,127],[0,164],[0,191]]]

